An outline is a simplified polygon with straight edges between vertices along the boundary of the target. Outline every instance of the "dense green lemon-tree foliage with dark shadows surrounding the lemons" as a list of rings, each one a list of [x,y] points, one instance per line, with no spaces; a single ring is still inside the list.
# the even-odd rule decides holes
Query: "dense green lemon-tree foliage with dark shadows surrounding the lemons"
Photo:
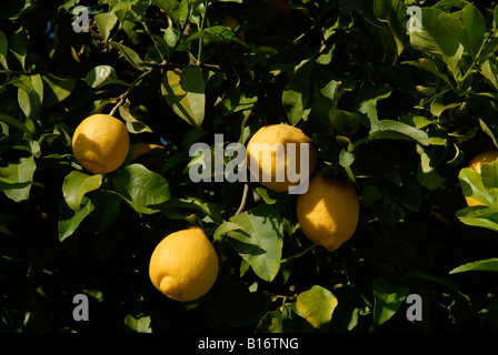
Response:
[[[414,4],[422,32],[406,29]],[[73,31],[76,6],[90,32]],[[465,170],[497,148],[495,2],[9,0],[0,29],[2,332],[496,329],[497,166]],[[70,142],[96,112],[162,148],[91,176]],[[292,195],[250,184],[236,215],[243,183],[189,180],[192,143],[247,143],[277,122],[356,184],[360,222],[337,252],[306,240]],[[221,267],[182,304],[148,261],[192,223]],[[72,317],[79,293],[88,322]],[[414,293],[422,321],[406,316]]]

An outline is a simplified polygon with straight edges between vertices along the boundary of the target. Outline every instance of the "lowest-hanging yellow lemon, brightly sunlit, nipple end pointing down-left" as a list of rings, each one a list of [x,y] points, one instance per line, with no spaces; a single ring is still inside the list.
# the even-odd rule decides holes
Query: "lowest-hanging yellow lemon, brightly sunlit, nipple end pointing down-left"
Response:
[[[149,262],[152,284],[176,301],[197,300],[218,276],[218,254],[202,229],[193,226],[169,234],[155,248]]]

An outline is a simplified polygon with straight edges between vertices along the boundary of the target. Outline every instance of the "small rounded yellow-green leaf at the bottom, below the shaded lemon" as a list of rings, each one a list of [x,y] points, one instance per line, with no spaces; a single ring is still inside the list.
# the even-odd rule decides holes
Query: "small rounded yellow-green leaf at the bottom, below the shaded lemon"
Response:
[[[296,308],[315,328],[330,323],[337,305],[336,296],[319,285],[301,292],[296,300]]]

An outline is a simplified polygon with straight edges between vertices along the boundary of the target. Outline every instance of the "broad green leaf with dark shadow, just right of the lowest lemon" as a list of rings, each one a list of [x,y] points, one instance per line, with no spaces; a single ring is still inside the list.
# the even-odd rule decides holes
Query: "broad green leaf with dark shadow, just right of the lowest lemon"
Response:
[[[255,273],[271,282],[280,270],[282,254],[282,223],[270,205],[260,204],[230,219],[241,230],[228,233],[227,241],[247,261]]]

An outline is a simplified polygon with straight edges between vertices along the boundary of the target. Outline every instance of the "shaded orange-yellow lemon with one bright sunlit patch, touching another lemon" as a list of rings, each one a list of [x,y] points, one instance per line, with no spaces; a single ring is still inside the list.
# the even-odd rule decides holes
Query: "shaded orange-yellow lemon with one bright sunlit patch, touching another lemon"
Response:
[[[359,201],[349,182],[315,174],[309,181],[308,191],[298,195],[296,210],[305,235],[331,252],[355,233]]]

